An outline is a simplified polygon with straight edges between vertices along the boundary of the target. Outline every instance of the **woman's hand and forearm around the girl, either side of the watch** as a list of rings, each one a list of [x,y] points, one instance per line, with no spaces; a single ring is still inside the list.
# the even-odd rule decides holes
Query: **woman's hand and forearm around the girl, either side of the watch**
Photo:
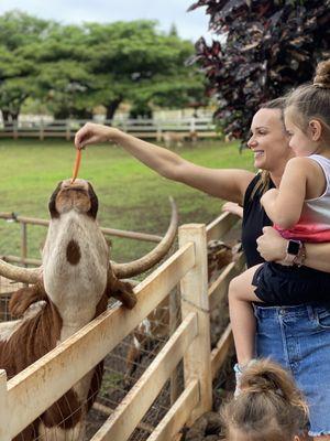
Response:
[[[257,251],[267,261],[280,263],[286,256],[287,239],[284,239],[273,227],[264,227],[263,235],[256,240]],[[319,271],[330,272],[330,243],[307,244],[304,265]]]

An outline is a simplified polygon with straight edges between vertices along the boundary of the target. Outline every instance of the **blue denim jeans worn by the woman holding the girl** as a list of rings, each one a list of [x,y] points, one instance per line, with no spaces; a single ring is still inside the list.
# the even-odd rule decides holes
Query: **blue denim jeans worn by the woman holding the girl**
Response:
[[[254,305],[256,355],[292,372],[309,407],[309,434],[330,434],[330,308]]]

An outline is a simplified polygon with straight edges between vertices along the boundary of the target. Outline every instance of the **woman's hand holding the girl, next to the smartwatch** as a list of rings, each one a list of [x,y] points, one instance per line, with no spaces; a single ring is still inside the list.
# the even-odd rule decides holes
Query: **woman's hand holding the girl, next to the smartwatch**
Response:
[[[287,240],[273,227],[264,227],[263,235],[256,239],[257,251],[267,261],[280,263],[286,256]]]

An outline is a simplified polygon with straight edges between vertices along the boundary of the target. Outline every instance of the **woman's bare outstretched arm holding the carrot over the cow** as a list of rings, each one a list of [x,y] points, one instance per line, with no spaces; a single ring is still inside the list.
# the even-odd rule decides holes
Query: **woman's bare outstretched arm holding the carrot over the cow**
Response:
[[[185,183],[207,194],[242,204],[254,174],[246,170],[218,170],[196,165],[178,154],[119,129],[88,122],[75,137],[77,149],[112,141],[164,178]]]

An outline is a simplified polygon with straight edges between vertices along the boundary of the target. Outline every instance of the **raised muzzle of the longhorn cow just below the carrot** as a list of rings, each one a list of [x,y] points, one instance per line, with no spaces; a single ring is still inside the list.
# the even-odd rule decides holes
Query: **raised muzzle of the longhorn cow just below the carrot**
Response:
[[[65,180],[59,182],[52,194],[48,208],[52,218],[70,209],[96,218],[99,201],[89,182],[79,179],[72,183],[72,180]]]

